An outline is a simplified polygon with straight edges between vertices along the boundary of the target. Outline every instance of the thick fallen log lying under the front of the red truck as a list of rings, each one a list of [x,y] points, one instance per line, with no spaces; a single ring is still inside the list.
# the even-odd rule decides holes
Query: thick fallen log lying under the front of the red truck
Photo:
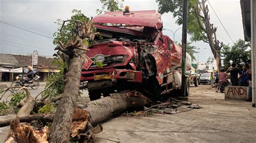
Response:
[[[77,106],[89,113],[90,123],[95,125],[100,121],[109,119],[111,116],[123,113],[129,108],[143,108],[144,105],[150,104],[150,102],[150,99],[140,92],[124,91]]]

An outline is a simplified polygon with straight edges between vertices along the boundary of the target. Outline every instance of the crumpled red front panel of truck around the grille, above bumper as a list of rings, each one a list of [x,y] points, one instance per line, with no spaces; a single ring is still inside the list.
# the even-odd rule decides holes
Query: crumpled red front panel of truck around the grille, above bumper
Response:
[[[125,45],[125,46],[124,46]],[[95,60],[97,55],[102,55],[105,58],[103,62],[104,68],[112,68],[116,66],[126,66],[129,61],[133,58],[133,47],[127,42],[110,41],[104,44],[95,44],[90,47],[90,51],[86,52],[86,55],[91,59]],[[124,56],[122,62],[112,62],[108,60],[113,56]],[[111,61],[111,62],[110,62]],[[92,64],[89,69],[98,69],[96,65]]]

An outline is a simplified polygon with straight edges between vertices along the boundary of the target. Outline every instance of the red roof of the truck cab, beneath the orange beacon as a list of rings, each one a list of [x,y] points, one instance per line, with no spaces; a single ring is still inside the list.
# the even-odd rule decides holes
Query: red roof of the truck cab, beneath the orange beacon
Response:
[[[130,11],[130,15],[123,15],[119,12],[105,12],[104,15],[98,15],[92,19],[95,23],[114,23],[129,24],[138,26],[162,27],[161,15],[156,10]]]

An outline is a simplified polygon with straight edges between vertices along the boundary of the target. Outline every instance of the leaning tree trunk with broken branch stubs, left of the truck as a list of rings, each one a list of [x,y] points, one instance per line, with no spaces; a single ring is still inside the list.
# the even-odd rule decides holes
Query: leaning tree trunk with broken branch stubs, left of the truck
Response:
[[[79,22],[77,20],[66,20],[65,22],[76,22],[78,27],[76,30],[75,41],[70,39],[68,44],[64,46],[61,41],[58,41],[59,46],[55,49],[58,49],[63,54],[68,55],[69,59],[69,71],[65,75],[65,87],[63,96],[60,99],[57,112],[53,119],[53,123],[50,130],[50,142],[69,142],[70,137],[70,127],[72,116],[75,110],[75,105],[77,102],[77,96],[79,92],[80,85],[80,73],[82,71],[82,66],[86,58],[86,52],[89,51],[88,46],[91,41],[93,41],[96,34],[95,31],[92,31],[93,22]],[[63,27],[62,27],[63,28]],[[62,33],[62,28],[60,28],[60,33]],[[75,32],[75,31],[73,31]]]

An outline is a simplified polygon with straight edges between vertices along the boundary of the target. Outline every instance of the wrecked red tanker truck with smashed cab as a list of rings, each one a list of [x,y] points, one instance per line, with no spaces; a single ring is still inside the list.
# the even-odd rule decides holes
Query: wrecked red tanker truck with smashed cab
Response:
[[[91,100],[127,89],[146,92],[152,98],[179,91],[181,48],[162,33],[161,15],[156,10],[105,12],[92,21],[100,37],[89,47],[81,74]],[[188,54],[186,68],[191,69]],[[186,78],[187,95],[189,84]]]

